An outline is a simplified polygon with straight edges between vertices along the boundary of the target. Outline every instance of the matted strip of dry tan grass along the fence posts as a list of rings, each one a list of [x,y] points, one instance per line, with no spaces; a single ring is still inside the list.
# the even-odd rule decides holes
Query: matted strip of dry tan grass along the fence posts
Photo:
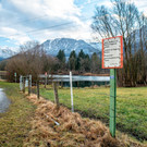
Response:
[[[82,119],[65,107],[57,109],[54,103],[44,98],[38,100],[35,95],[27,98],[37,109],[24,147],[140,147],[126,138],[125,142],[112,138],[99,121]]]

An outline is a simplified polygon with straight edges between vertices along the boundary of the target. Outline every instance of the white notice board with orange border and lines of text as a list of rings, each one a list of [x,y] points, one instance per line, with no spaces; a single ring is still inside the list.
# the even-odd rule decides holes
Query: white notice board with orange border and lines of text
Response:
[[[122,36],[102,39],[102,69],[123,68]]]

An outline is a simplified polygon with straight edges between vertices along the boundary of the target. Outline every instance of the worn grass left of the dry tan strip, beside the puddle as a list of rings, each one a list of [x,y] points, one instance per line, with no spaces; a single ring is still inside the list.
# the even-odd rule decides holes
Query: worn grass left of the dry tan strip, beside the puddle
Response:
[[[22,147],[30,130],[30,118],[35,107],[19,91],[17,84],[0,82],[11,105],[5,113],[0,113],[0,146]]]

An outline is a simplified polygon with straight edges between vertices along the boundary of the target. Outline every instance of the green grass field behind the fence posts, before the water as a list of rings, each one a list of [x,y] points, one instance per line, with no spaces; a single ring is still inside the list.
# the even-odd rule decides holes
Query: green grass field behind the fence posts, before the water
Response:
[[[84,117],[109,123],[109,88],[74,88],[74,109]],[[54,99],[52,89],[40,89],[42,97]],[[60,103],[71,108],[70,88],[59,89]],[[147,87],[118,88],[117,128],[147,140]]]

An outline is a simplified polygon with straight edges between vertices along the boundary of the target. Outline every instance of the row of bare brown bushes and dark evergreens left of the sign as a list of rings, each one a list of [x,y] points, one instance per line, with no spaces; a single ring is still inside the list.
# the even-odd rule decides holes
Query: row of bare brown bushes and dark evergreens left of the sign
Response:
[[[100,73],[101,61],[99,54],[94,52],[91,57],[85,54],[83,50],[75,53],[71,51],[66,58],[64,50],[59,50],[57,57],[49,56],[37,41],[27,41],[20,47],[20,53],[1,62],[1,70],[8,71],[8,79],[14,82],[14,73],[20,75],[32,75],[33,81],[38,81],[39,74],[74,74]]]

